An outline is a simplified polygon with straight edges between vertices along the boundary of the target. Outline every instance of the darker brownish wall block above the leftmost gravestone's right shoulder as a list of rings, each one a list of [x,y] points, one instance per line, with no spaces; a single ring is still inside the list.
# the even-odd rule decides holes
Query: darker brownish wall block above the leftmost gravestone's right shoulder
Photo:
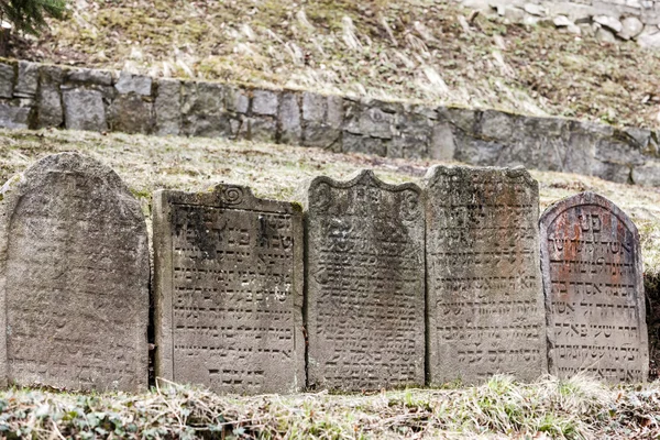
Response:
[[[154,105],[140,95],[119,95],[110,106],[112,131],[151,134],[154,124]]]

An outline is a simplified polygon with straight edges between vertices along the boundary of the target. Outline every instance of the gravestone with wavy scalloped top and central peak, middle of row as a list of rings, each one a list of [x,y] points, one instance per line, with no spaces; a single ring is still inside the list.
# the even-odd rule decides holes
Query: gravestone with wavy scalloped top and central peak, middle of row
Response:
[[[425,383],[424,200],[371,170],[307,187],[310,387]]]

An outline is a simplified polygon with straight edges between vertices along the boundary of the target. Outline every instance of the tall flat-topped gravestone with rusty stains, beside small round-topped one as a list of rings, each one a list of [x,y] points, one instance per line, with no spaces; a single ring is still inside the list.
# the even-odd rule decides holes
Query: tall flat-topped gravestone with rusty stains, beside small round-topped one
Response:
[[[536,180],[436,166],[426,193],[430,383],[547,373]]]

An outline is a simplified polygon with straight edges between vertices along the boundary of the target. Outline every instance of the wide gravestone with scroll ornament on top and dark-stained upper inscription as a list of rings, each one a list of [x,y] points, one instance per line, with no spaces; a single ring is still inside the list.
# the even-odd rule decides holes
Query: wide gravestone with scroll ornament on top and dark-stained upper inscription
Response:
[[[248,187],[154,195],[156,375],[218,393],[305,387],[302,211]]]

